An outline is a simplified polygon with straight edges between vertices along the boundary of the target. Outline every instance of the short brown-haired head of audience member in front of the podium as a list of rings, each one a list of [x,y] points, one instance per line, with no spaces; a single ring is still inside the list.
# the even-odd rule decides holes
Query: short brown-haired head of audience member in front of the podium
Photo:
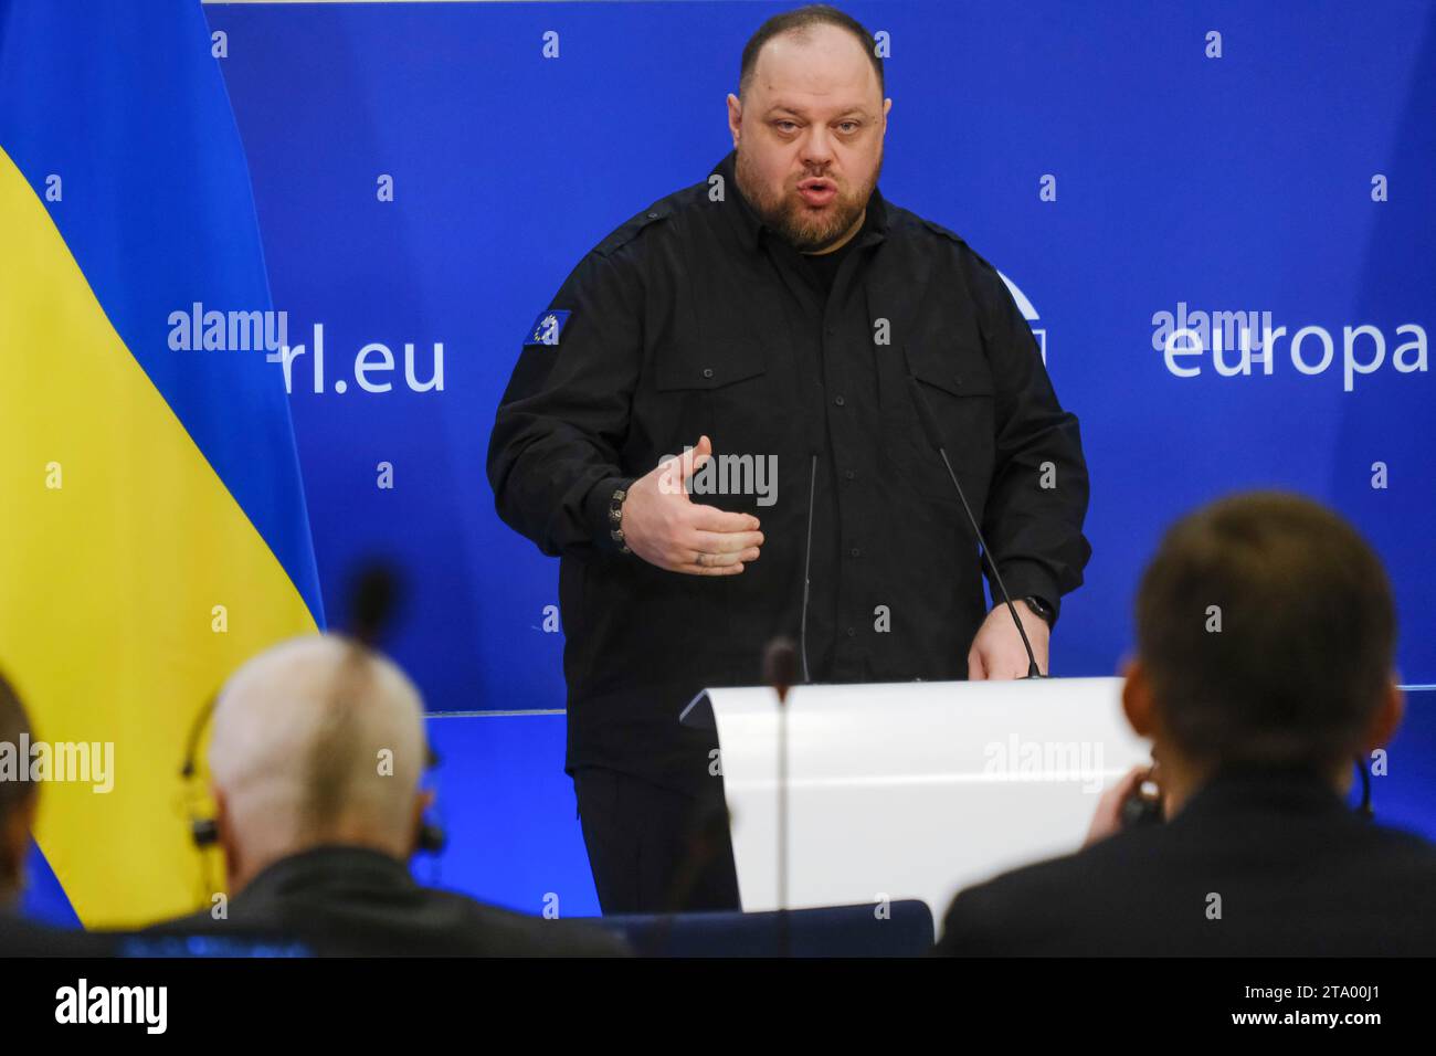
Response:
[[[1123,705],[1153,740],[1167,809],[1215,770],[1305,769],[1350,787],[1402,718],[1396,612],[1351,524],[1254,491],[1173,524],[1136,599]]]

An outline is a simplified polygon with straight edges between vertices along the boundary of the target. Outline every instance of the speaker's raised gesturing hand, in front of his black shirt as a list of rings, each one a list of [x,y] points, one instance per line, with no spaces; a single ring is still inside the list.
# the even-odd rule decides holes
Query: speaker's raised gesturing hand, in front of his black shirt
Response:
[[[744,562],[758,559],[763,533],[757,517],[696,506],[688,496],[688,481],[709,458],[712,443],[699,437],[698,447],[659,463],[629,487],[623,542],[649,565],[694,576],[734,576]]]

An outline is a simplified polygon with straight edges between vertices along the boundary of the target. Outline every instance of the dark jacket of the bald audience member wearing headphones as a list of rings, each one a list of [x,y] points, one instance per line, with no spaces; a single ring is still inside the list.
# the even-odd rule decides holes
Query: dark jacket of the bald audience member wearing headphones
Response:
[[[619,957],[622,940],[577,921],[544,920],[419,885],[379,851],[323,846],[274,862],[230,899],[146,934],[296,938],[319,955]]]

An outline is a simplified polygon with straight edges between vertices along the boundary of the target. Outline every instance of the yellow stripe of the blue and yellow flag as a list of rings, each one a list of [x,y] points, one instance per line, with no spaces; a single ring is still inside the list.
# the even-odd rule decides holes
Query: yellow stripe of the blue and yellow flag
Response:
[[[0,667],[39,738],[115,746],[111,792],[42,787],[36,839],[86,925],[129,927],[205,894],[178,780],[195,713],[314,622],[4,151],[0,230]]]

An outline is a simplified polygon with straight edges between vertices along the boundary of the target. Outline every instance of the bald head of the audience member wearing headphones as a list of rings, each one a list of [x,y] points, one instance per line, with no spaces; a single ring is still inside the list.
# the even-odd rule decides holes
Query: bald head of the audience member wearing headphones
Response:
[[[244,664],[208,751],[231,894],[319,846],[408,859],[431,799],[428,751],[418,688],[358,642],[299,638]]]

